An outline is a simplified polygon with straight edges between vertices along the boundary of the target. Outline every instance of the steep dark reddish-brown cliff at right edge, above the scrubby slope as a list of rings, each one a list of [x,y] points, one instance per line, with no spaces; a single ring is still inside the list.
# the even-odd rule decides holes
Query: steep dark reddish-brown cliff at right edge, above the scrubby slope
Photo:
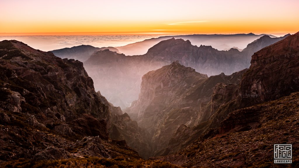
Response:
[[[243,102],[261,103],[299,90],[298,44],[296,33],[254,53],[239,89]]]

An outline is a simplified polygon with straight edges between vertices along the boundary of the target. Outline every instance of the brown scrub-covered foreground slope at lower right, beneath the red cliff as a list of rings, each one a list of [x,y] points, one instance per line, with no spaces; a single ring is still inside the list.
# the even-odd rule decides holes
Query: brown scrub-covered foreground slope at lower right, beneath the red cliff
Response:
[[[296,92],[238,110],[231,113],[233,116],[228,117],[222,126],[241,118],[247,122],[248,115],[256,116],[254,122],[257,124],[251,124],[253,128],[243,125],[244,129],[219,138],[199,139],[176,154],[155,159],[183,167],[296,167],[299,163],[298,102],[299,93]],[[274,144],[292,144],[293,164],[273,164]]]

